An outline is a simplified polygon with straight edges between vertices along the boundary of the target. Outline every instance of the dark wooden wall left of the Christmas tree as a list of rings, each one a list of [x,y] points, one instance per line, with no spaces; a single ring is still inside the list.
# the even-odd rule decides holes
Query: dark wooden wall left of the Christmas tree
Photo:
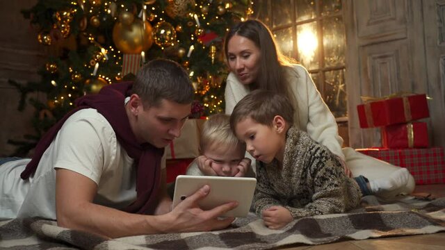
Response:
[[[35,2],[0,1],[0,157],[15,151],[15,147],[7,143],[9,139],[23,140],[24,134],[33,133],[30,124],[33,108],[29,106],[23,113],[17,110],[20,94],[8,80],[38,81],[37,70],[42,65],[45,48],[35,39],[35,28],[20,13]]]

